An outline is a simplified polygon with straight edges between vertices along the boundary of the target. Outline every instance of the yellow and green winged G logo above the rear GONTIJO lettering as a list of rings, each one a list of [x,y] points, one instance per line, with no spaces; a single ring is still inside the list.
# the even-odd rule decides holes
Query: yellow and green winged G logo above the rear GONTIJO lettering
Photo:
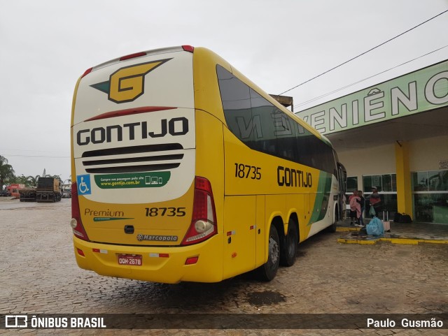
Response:
[[[144,94],[145,75],[170,59],[160,59],[119,68],[106,82],[90,85],[109,95],[109,101],[127,103]]]

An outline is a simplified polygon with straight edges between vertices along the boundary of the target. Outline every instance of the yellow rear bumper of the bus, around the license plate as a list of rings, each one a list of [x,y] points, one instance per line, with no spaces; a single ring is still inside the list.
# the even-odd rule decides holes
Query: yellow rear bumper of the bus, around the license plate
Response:
[[[220,234],[186,247],[99,244],[73,236],[73,247],[78,266],[99,275],[167,284],[223,280],[223,243]],[[83,251],[84,256],[79,254],[78,249]],[[119,254],[139,254],[142,265],[119,265]],[[197,263],[186,265],[186,260],[195,256],[199,257]]]

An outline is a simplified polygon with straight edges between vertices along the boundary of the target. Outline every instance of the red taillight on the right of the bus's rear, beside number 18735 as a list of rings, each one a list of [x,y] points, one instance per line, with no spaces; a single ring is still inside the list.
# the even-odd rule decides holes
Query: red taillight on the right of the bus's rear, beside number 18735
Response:
[[[195,199],[190,228],[183,238],[182,245],[196,244],[216,235],[216,210],[209,180],[204,177],[195,179]]]

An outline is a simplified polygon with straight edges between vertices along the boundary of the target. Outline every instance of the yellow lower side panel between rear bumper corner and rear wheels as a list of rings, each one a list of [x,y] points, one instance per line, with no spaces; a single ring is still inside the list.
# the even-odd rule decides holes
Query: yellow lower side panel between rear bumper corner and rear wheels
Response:
[[[225,196],[224,278],[255,268],[255,196]]]

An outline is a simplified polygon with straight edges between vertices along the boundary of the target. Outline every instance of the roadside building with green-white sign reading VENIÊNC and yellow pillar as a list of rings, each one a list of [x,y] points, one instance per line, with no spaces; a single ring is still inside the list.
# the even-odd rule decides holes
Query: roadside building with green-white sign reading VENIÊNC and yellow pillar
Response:
[[[377,187],[392,219],[448,224],[448,59],[296,115],[335,147],[348,194]]]

